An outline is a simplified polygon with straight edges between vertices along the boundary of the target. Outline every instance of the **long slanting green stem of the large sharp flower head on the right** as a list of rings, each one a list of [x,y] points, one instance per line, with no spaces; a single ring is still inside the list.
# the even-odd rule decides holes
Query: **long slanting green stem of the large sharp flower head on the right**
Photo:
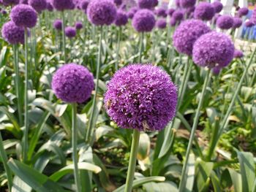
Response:
[[[186,179],[186,177],[187,177],[187,164],[188,164],[188,161],[189,161],[189,154],[190,154],[190,150],[192,149],[193,140],[195,138],[195,131],[197,129],[198,120],[200,118],[200,110],[201,110],[201,107],[203,106],[203,99],[204,99],[204,96],[205,96],[205,93],[206,93],[206,88],[207,88],[208,81],[210,80],[210,78],[211,78],[211,70],[208,69],[208,72],[206,74],[206,79],[203,83],[203,90],[202,90],[202,93],[200,95],[200,100],[199,100],[199,104],[197,106],[197,111],[195,113],[195,118],[194,118],[192,130],[191,130],[191,133],[190,133],[189,145],[187,146],[187,153],[186,153],[186,157],[185,157],[185,161],[184,161],[184,165],[183,165],[182,173],[181,173],[181,182],[180,182],[180,185],[179,185],[179,188],[178,188],[179,192],[183,192],[184,188],[186,186],[186,182],[187,182],[187,179]]]

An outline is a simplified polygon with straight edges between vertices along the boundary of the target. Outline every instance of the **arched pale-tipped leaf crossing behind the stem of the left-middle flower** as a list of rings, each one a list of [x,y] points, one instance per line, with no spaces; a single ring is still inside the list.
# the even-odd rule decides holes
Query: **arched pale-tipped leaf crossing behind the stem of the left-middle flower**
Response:
[[[89,164],[86,162],[78,163],[78,169],[91,171],[96,174],[102,171],[102,169],[99,166],[96,166],[94,164]],[[73,172],[74,172],[74,164],[71,164],[71,165],[65,166],[64,168],[60,169],[58,172],[55,172],[54,174],[52,174],[50,176],[50,179],[53,181],[58,181],[64,175],[73,173]]]

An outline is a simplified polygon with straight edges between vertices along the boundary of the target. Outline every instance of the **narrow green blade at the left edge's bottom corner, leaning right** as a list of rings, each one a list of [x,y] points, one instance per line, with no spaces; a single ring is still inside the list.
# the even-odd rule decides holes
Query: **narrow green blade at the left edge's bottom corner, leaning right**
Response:
[[[1,160],[4,165],[4,171],[7,174],[7,181],[8,181],[8,189],[9,191],[12,191],[12,172],[7,165],[7,153],[4,150],[4,145],[3,145],[3,138],[1,137],[1,132],[0,132],[0,155],[1,155]]]

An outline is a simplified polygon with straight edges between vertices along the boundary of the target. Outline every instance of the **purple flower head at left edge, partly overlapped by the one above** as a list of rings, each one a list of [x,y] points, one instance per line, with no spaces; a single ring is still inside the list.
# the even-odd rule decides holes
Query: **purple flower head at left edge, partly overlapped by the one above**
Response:
[[[24,43],[25,30],[23,27],[18,27],[12,21],[4,23],[1,28],[1,35],[10,44]]]

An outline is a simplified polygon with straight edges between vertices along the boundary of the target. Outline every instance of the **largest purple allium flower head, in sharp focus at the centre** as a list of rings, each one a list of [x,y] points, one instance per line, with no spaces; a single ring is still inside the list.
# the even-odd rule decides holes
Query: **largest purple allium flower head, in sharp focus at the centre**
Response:
[[[159,131],[176,114],[177,88],[159,67],[134,64],[114,74],[104,102],[108,115],[121,128]]]

